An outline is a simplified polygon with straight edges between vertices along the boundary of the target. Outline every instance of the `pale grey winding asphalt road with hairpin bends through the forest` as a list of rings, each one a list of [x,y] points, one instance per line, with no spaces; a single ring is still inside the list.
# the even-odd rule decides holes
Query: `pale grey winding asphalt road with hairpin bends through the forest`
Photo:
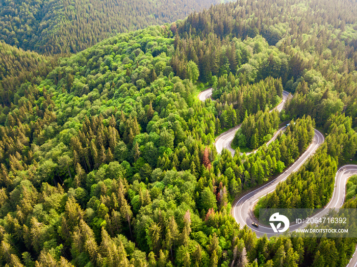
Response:
[[[210,98],[212,95],[212,88],[209,88],[205,91],[202,91],[198,98],[201,101],[205,101],[207,98]],[[281,111],[284,108],[284,104],[288,99],[289,93],[283,91],[283,100],[279,103],[275,109]],[[221,153],[223,148],[226,148],[231,151],[234,155],[234,150],[231,147],[231,142],[234,138],[236,131],[239,129],[240,125],[223,132],[219,137],[216,138],[215,145],[218,153]],[[278,133],[283,130],[285,127],[279,129],[274,137],[266,144],[269,145],[273,140],[275,140]],[[290,166],[284,173],[276,177],[274,180],[268,182],[267,184],[262,185],[260,188],[247,193],[242,196],[235,204],[233,205],[232,214],[241,226],[247,225],[253,232],[257,234],[258,237],[266,234],[268,237],[274,235],[273,230],[270,227],[259,226],[259,228],[252,227],[252,222],[256,222],[256,218],[253,215],[253,208],[257,201],[263,196],[273,192],[276,188],[276,185],[287,179],[287,177],[292,173],[297,171],[301,165],[307,161],[307,159],[315,153],[319,146],[324,142],[324,136],[321,132],[315,129],[315,135],[312,143],[307,148],[307,150],[295,161],[295,163]],[[254,151],[253,151],[254,152]],[[333,196],[329,203],[325,206],[324,210],[319,213],[324,214],[328,211],[329,208],[340,208],[345,200],[346,195],[346,183],[350,176],[357,174],[357,165],[345,165],[342,166],[336,173],[335,176],[335,188]],[[289,231],[294,231],[297,228],[304,227],[303,225],[291,225]],[[350,259],[347,267],[356,267],[357,266],[357,250],[354,252],[352,258]]]

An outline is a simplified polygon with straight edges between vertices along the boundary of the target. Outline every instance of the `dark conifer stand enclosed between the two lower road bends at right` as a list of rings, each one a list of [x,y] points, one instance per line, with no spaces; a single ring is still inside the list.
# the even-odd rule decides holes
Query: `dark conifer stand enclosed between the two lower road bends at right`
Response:
[[[322,208],[326,205],[334,191],[337,166],[348,162],[357,150],[357,134],[351,124],[351,119],[344,114],[332,115],[325,125],[329,132],[325,144],[298,172],[262,198],[256,209]],[[354,195],[349,193],[349,196]]]

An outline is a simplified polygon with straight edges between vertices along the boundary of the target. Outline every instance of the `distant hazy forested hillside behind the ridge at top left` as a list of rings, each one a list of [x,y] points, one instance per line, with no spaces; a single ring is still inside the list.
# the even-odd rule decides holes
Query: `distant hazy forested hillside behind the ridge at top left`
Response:
[[[42,54],[75,53],[115,34],[183,19],[217,3],[221,1],[2,0],[0,40]],[[171,30],[174,34],[174,24]]]

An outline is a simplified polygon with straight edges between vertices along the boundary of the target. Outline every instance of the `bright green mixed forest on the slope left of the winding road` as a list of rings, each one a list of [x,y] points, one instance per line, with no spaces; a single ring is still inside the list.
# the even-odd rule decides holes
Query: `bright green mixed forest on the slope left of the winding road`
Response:
[[[62,59],[4,106],[4,264],[227,265],[236,246],[248,261],[237,238],[254,236],[230,203],[294,161],[299,127],[248,158],[216,156],[215,104],[174,76],[174,40],[163,36],[122,34]]]

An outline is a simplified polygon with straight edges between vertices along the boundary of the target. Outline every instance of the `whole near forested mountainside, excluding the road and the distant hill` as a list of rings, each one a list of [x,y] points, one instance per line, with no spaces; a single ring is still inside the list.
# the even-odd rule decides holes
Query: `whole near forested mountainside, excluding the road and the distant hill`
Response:
[[[355,9],[238,1],[70,58],[1,43],[0,265],[346,265],[356,238],[257,238],[231,210],[304,152],[315,124],[325,143],[259,206],[328,202],[357,151]],[[199,101],[209,86],[216,101]],[[283,89],[286,110],[268,113]],[[242,123],[256,148],[286,120],[256,153],[217,154],[224,129]]]

